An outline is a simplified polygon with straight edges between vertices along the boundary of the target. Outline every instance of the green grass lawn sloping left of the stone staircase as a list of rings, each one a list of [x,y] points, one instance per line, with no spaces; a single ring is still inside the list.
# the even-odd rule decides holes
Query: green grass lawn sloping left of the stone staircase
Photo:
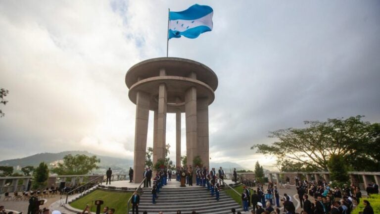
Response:
[[[104,204],[101,206],[101,212],[103,207],[107,206],[109,208],[114,208],[116,214],[125,214],[127,212],[127,202],[132,196],[132,192],[111,192],[104,190],[95,190],[94,192],[76,200],[71,203],[70,206],[80,210],[84,210],[86,205],[93,205],[91,211],[96,212],[96,206],[94,202],[96,200],[104,201]]]

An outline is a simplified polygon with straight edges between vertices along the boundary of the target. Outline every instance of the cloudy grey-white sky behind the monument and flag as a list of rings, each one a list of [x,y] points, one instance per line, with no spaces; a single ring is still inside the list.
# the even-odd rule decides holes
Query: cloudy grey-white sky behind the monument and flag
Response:
[[[166,55],[168,8],[194,3],[0,0],[0,87],[9,90],[0,160],[67,150],[133,158],[125,73]],[[380,1],[200,3],[214,9],[213,31],[170,40],[169,56],[218,75],[212,161],[269,168],[272,158],[249,150],[273,142],[269,131],[358,114],[380,121]],[[151,119],[148,146],[152,128]],[[175,159],[174,114],[166,136]]]

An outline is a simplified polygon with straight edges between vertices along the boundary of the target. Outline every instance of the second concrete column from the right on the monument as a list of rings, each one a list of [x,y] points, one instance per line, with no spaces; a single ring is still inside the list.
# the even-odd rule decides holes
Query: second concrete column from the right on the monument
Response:
[[[188,165],[192,165],[194,157],[197,156],[197,122],[196,122],[196,88],[191,87],[185,93],[186,114],[186,155]],[[193,176],[195,180],[195,176]]]

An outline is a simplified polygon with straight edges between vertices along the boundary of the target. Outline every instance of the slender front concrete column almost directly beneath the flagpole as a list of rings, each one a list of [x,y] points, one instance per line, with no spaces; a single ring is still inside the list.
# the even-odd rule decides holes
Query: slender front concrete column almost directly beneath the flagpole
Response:
[[[161,73],[161,71],[160,71]],[[158,159],[165,158],[166,146],[166,104],[167,89],[164,83],[161,83],[158,89],[158,110],[157,110],[157,141],[153,144],[153,165]]]

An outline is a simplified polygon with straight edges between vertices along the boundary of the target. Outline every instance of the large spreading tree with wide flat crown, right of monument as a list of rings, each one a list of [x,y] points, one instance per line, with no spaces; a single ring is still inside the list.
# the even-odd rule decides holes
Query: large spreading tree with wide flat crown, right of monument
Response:
[[[380,168],[380,125],[362,121],[362,117],[305,121],[305,128],[270,132],[269,137],[278,139],[273,145],[258,144],[251,149],[317,170],[327,171],[332,155],[342,155],[354,170],[376,170]]]

